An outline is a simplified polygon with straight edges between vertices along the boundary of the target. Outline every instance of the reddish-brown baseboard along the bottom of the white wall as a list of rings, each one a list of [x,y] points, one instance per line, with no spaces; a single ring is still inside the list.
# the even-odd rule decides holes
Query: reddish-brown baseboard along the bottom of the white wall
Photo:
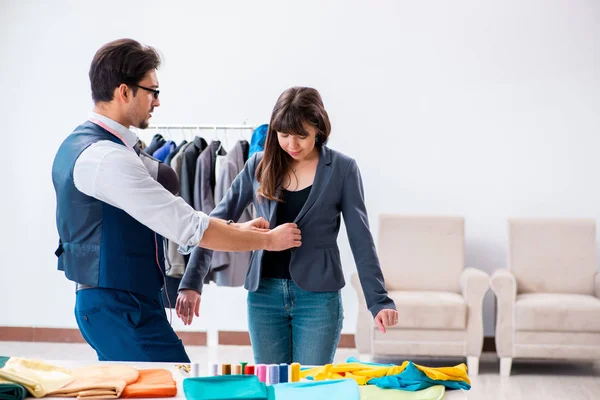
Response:
[[[186,346],[206,346],[206,332],[176,332]],[[0,326],[0,341],[5,342],[48,342],[48,343],[85,343],[79,329],[70,328],[34,328]],[[240,331],[219,331],[219,344],[229,346],[250,346],[250,334]],[[342,334],[338,348],[356,347],[353,334]],[[484,352],[496,352],[493,337],[483,339]]]

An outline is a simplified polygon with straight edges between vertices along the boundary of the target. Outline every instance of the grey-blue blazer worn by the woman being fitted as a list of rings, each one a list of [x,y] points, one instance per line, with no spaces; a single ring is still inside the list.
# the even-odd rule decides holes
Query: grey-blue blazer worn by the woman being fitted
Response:
[[[253,155],[235,178],[227,195],[211,213],[212,217],[237,221],[253,203],[256,217],[275,227],[277,202],[258,196],[256,166],[263,153]],[[344,216],[350,247],[373,316],[382,309],[395,309],[385,289],[364,201],[363,185],[356,161],[326,146],[321,148],[317,173],[308,199],[294,221],[302,231],[302,246],[292,252],[290,275],[296,285],[311,292],[337,291],[345,280],[337,236]],[[197,247],[192,252],[179,289],[202,291],[202,280],[210,265],[210,251]],[[263,250],[252,254],[244,287],[258,289]]]

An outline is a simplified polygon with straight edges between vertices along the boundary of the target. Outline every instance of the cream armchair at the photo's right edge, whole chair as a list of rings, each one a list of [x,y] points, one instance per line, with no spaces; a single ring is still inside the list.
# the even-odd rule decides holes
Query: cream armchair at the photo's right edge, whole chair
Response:
[[[514,358],[600,359],[593,219],[511,219],[509,268],[494,272],[500,374]]]

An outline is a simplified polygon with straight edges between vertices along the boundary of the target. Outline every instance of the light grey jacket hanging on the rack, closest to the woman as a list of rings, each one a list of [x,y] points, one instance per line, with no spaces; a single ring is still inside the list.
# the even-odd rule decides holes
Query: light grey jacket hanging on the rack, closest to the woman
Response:
[[[249,144],[239,141],[233,149],[225,156],[221,165],[215,186],[215,202],[219,203],[225,197],[234,179],[244,169]],[[236,222],[242,223],[252,219],[252,205],[244,212]],[[243,286],[250,264],[252,252],[224,252],[215,251],[212,258],[211,270],[214,272],[214,281],[218,286]]]

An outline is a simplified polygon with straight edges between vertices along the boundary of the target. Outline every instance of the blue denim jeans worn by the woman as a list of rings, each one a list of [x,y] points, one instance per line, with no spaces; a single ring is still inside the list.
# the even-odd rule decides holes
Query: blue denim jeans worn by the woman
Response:
[[[288,279],[261,279],[248,293],[248,325],[256,364],[333,362],[344,310],[337,292],[308,292]]]

